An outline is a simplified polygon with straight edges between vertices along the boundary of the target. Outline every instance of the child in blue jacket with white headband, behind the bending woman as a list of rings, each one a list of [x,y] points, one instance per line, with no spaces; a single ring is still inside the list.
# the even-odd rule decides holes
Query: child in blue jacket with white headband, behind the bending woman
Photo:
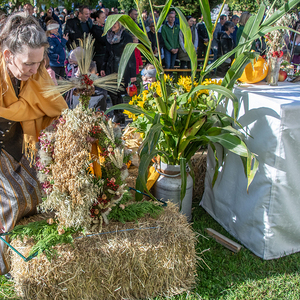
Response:
[[[48,37],[50,59],[50,67],[55,72],[56,79],[65,78],[65,46],[68,41],[68,34],[64,34],[62,38],[58,35],[59,24],[50,20],[47,23],[46,35]]]

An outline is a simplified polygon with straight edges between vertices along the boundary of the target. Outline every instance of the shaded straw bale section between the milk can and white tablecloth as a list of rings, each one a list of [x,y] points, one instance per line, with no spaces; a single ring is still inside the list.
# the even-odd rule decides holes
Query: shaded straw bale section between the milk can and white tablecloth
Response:
[[[201,151],[196,152],[195,155],[191,158],[191,167],[195,176],[193,197],[196,199],[201,199],[204,193],[206,155],[207,151]]]

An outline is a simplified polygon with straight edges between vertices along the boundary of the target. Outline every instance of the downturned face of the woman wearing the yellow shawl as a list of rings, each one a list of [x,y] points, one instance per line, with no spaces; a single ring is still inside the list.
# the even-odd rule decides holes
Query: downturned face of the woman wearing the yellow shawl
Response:
[[[22,51],[18,54],[13,55],[9,50],[5,50],[3,54],[7,61],[7,67],[14,77],[26,81],[37,73],[41,62],[44,60],[44,51],[44,47],[32,49],[23,46]]]

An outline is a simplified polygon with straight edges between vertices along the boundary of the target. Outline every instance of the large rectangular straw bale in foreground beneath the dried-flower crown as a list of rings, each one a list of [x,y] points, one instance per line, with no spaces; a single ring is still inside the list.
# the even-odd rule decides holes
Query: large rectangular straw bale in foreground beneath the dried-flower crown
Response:
[[[193,287],[196,236],[174,204],[168,203],[157,220],[110,223],[103,232],[126,228],[137,230],[75,239],[74,248],[56,246],[59,256],[51,262],[44,255],[24,262],[10,251],[18,295],[22,299],[145,299]],[[25,256],[32,247],[30,240],[12,244]]]

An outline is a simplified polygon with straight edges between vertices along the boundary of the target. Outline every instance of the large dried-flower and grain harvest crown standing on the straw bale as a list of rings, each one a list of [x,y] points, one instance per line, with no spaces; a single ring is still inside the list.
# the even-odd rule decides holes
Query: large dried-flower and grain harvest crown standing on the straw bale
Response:
[[[103,113],[65,110],[40,136],[36,167],[45,201],[61,227],[100,230],[127,193],[129,155],[121,129]],[[92,227],[91,227],[92,226]]]

